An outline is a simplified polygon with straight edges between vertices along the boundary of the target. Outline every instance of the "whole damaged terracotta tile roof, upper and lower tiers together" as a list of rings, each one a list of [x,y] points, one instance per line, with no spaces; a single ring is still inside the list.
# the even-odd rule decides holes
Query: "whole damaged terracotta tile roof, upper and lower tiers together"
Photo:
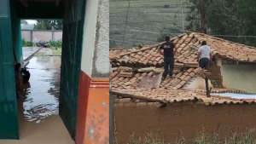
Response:
[[[109,50],[113,65],[111,93],[125,97],[165,103],[179,101],[201,101],[206,105],[255,103],[255,99],[232,98],[212,94],[208,98],[202,89],[183,89],[195,78],[204,78],[206,72],[198,66],[197,49],[202,41],[212,50],[212,55],[235,61],[256,62],[256,49],[240,43],[212,37],[202,33],[186,32],[172,38],[176,44],[173,78],[161,79],[163,55],[158,52],[161,43],[140,48]],[[246,93],[237,89],[212,89],[212,93]]]

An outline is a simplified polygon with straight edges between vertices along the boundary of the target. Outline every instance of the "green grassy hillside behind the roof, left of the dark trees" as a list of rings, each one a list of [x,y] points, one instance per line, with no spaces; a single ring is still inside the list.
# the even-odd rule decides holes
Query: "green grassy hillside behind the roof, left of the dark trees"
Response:
[[[188,9],[183,0],[183,15],[180,0],[135,0],[131,1],[128,23],[125,32],[124,48],[132,48],[138,44],[157,43],[157,38],[163,33],[174,36],[183,32]],[[110,0],[110,47],[120,47],[123,43],[125,20],[129,1]],[[169,8],[165,8],[167,6]],[[164,29],[171,29],[165,31]],[[164,31],[162,31],[164,30]],[[161,32],[162,31],[162,32]],[[171,34],[175,33],[175,34]]]

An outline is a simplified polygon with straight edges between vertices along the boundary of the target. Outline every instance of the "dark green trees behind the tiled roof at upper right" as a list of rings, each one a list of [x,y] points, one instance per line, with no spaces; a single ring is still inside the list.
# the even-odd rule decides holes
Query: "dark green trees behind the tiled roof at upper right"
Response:
[[[237,43],[256,46],[255,37],[234,37],[256,35],[256,1],[188,0],[187,3],[191,3],[186,17],[189,22],[187,30],[218,35]],[[205,31],[202,30],[204,26]]]

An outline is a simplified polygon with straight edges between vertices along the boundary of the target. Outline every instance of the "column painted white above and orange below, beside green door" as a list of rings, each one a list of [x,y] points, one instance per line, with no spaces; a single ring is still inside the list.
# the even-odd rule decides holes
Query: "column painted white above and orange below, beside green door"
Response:
[[[100,34],[101,9],[106,8],[102,6],[104,4],[102,1],[108,2],[106,0],[87,0],[86,2],[75,138],[77,144],[109,143],[109,65],[108,54],[102,55],[102,51],[108,52],[108,39],[104,39],[105,45],[101,47],[99,44],[101,45],[102,42],[99,42],[98,37],[101,34],[102,37],[108,37],[108,32]],[[106,22],[106,20],[103,21]],[[108,23],[104,25],[108,26]],[[102,60],[98,61],[97,57],[101,57]],[[102,62],[105,59],[107,70],[104,69],[106,64]]]

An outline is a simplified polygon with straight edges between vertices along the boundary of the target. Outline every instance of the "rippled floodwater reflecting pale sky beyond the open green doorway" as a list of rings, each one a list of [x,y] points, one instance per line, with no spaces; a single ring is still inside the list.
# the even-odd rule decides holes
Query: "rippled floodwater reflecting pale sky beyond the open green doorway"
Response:
[[[34,56],[26,66],[31,73],[29,84],[24,85],[23,114],[27,121],[39,124],[44,118],[58,114],[60,66],[60,56]]]

